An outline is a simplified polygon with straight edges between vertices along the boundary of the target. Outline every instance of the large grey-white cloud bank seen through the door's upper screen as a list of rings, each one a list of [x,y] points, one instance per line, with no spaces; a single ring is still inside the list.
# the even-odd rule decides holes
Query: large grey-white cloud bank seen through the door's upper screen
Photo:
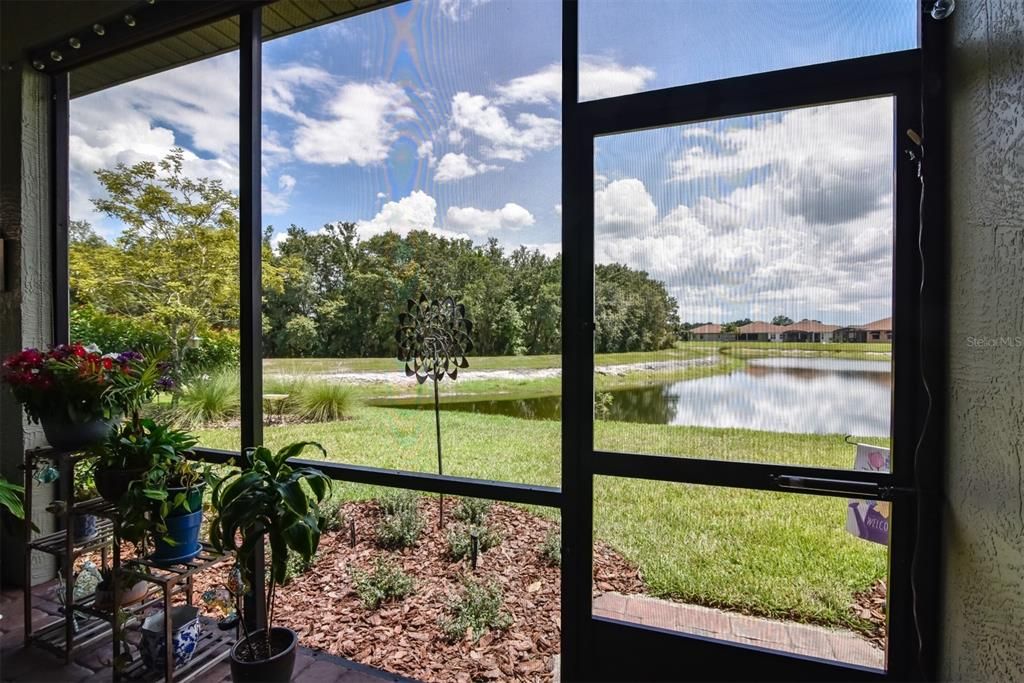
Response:
[[[891,121],[881,100],[687,129],[671,210],[637,178],[598,185],[595,257],[665,282],[689,321],[888,315]]]

